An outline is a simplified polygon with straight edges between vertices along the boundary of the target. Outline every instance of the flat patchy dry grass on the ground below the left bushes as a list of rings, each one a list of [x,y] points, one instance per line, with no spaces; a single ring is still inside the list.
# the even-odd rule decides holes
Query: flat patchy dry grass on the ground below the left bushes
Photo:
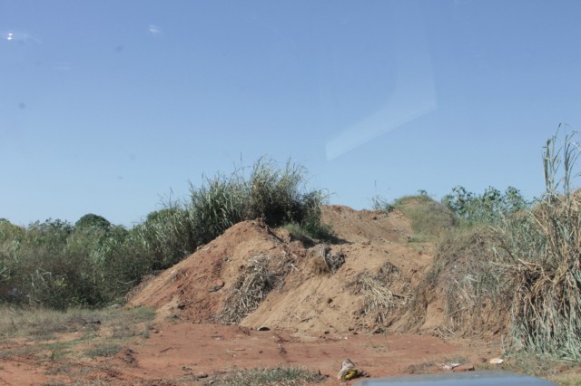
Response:
[[[145,337],[143,330],[153,317],[148,308],[62,312],[2,305],[0,332],[11,348],[0,358],[26,356],[39,364],[67,366],[84,355],[112,356],[129,340]],[[63,339],[62,333],[74,333],[74,338],[69,334]]]

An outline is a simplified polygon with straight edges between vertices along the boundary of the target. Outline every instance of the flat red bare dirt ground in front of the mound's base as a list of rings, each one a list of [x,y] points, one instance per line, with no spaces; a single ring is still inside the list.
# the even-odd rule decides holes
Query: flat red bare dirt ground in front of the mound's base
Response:
[[[147,339],[128,343],[111,358],[64,361],[15,355],[0,362],[0,385],[204,384],[235,369],[299,366],[329,375],[337,385],[340,363],[350,358],[373,377],[416,371],[439,372],[438,364],[497,355],[497,343],[446,343],[432,336],[382,333],[259,332],[209,323],[156,323]],[[32,343],[27,343],[32,344]],[[470,347],[471,345],[471,347]],[[2,346],[5,350],[8,347]],[[14,349],[14,345],[10,347]],[[197,379],[205,373],[208,378]],[[351,381],[350,383],[354,383]]]

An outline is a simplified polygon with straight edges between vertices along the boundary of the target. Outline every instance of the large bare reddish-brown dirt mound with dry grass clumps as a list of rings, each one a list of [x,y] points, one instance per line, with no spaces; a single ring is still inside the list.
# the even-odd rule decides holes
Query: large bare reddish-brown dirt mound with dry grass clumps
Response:
[[[143,285],[129,304],[194,323],[291,329],[305,339],[403,325],[409,291],[432,259],[409,247],[407,219],[340,206],[324,207],[322,218],[339,244],[306,247],[285,229],[244,221]],[[381,296],[397,301],[386,308]]]

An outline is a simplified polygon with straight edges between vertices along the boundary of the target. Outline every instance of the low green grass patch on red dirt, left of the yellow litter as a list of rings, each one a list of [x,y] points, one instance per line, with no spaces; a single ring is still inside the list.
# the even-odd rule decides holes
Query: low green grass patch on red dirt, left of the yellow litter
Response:
[[[326,377],[320,372],[299,367],[275,367],[269,369],[239,370],[229,373],[215,384],[223,386],[253,385],[303,385],[324,381]]]

